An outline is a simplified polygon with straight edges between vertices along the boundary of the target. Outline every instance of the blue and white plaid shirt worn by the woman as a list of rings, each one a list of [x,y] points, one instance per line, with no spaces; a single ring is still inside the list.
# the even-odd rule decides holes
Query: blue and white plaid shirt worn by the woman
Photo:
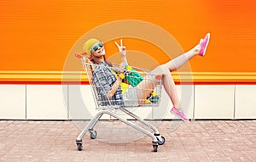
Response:
[[[114,93],[112,98],[107,97],[108,91],[112,88],[116,77],[109,69],[110,66],[106,63],[96,65],[93,72],[93,81],[97,91],[97,102],[99,105],[123,105],[123,95],[121,87]]]

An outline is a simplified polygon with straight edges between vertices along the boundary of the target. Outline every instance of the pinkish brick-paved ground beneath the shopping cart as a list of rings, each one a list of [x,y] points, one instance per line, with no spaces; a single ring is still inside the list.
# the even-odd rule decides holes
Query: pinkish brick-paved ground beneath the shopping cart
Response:
[[[171,123],[158,122],[166,142],[154,153],[150,137],[116,120],[100,121],[82,151],[78,121],[0,120],[0,161],[256,161],[256,120],[195,120],[177,129]]]

